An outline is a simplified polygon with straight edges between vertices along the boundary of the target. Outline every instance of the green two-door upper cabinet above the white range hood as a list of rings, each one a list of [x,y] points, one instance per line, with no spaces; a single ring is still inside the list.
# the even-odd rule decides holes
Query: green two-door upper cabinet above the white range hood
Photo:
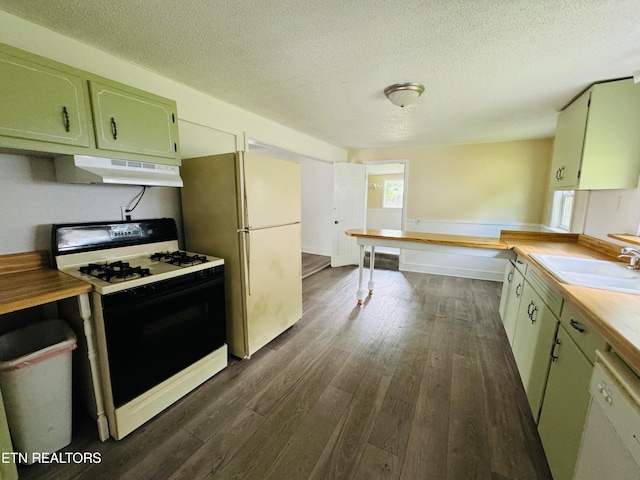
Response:
[[[0,44],[0,151],[180,165],[176,102]]]

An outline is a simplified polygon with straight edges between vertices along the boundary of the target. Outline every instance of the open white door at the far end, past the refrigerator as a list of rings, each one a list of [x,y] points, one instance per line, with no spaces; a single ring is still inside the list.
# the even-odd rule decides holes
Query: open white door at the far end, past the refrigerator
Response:
[[[345,230],[364,228],[367,167],[359,163],[333,164],[333,248],[331,266],[356,265],[359,248]]]

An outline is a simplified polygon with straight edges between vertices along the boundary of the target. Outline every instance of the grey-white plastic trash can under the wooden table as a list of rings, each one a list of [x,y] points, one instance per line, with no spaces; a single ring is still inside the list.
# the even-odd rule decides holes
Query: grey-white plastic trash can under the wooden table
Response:
[[[40,453],[71,443],[74,348],[76,337],[62,320],[45,320],[0,336],[0,391],[13,448],[26,454],[28,464]]]

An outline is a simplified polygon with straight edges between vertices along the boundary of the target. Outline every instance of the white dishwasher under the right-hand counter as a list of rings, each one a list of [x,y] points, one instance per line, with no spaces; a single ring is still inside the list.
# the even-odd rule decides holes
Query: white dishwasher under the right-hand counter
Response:
[[[640,378],[597,352],[575,480],[640,479]]]

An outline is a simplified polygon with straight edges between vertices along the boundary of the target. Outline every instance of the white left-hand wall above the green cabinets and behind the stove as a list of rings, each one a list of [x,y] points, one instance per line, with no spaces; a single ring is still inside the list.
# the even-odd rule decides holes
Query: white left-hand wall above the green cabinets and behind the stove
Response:
[[[328,162],[345,150],[239,109],[106,52],[0,11],[0,42],[97,75],[173,98],[181,153],[187,157],[245,150],[249,139]],[[52,160],[0,153],[0,254],[49,247],[55,222],[117,220],[139,187],[57,184]],[[181,222],[179,189],[148,189],[133,218],[172,216]],[[8,225],[8,227],[7,227]]]

